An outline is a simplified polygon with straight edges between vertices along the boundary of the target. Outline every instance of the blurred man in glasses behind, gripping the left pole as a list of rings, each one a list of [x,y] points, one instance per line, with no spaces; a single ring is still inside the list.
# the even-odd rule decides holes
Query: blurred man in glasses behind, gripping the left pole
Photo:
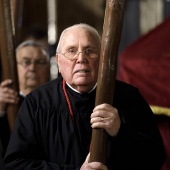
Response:
[[[34,88],[50,80],[49,53],[36,41],[25,41],[16,49],[16,60],[19,77],[20,95],[25,96]],[[6,118],[7,104],[19,101],[18,93],[9,85],[12,80],[4,80],[0,84],[0,139],[5,151],[9,140],[9,127]]]

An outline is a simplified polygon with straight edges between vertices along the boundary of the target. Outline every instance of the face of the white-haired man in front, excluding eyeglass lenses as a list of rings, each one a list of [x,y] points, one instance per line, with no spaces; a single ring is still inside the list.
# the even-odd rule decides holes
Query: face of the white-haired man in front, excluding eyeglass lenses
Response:
[[[86,58],[86,54],[79,53],[77,59],[69,60],[64,53],[69,50],[82,52],[85,49],[95,51],[94,58]],[[97,82],[99,67],[99,42],[89,31],[83,28],[73,28],[65,32],[57,55],[59,70],[63,78],[79,92],[88,92]]]

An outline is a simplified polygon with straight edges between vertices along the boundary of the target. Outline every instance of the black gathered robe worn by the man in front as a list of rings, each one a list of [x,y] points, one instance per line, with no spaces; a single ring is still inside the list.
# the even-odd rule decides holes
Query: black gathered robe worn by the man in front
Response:
[[[7,170],[75,170],[83,164],[91,141],[90,115],[96,90],[79,94],[66,86],[74,112],[72,121],[62,78],[26,96],[6,152]],[[160,170],[165,155],[150,107],[138,89],[116,81],[113,106],[121,128],[109,137],[109,170]]]

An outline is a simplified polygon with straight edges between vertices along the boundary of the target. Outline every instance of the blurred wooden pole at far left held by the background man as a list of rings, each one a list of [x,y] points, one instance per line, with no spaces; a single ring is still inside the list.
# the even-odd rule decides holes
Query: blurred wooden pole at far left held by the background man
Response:
[[[3,79],[12,79],[13,83],[11,88],[19,91],[10,0],[0,0],[0,25],[0,47]],[[8,122],[11,131],[14,126],[18,109],[19,104],[10,104],[7,108]]]

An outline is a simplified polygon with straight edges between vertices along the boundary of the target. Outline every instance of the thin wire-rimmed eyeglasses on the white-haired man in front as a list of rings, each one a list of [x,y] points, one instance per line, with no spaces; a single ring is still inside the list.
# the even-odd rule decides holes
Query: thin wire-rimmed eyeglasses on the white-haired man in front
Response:
[[[70,49],[65,53],[58,52],[58,54],[62,54],[67,60],[76,60],[80,53],[85,54],[87,59],[95,59],[98,57],[98,51],[93,48],[86,48],[83,51]]]

